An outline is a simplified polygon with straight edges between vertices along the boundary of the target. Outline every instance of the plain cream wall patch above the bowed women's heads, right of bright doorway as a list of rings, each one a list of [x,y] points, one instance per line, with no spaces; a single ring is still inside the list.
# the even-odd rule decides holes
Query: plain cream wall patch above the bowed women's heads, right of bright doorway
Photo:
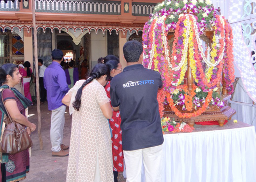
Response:
[[[97,64],[97,60],[100,57],[107,56],[107,36],[99,30],[96,34],[96,31],[91,32],[91,56],[89,62],[89,69]]]

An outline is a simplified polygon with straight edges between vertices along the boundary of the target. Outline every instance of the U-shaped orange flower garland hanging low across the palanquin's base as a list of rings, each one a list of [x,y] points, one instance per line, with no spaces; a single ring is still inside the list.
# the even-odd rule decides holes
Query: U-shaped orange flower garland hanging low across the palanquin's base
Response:
[[[186,87],[186,86],[184,86],[184,87]],[[202,107],[193,113],[181,113],[176,108],[175,103],[173,102],[171,95],[168,92],[166,93],[166,98],[167,98],[167,101],[169,102],[169,106],[171,107],[172,111],[174,111],[176,116],[178,116],[179,118],[192,118],[192,117],[197,117],[197,116],[201,115],[203,112],[205,112],[206,108],[209,106],[209,103],[212,99],[212,93],[213,93],[212,90],[208,91],[208,95],[207,95]],[[190,94],[190,93],[188,93],[188,94]]]

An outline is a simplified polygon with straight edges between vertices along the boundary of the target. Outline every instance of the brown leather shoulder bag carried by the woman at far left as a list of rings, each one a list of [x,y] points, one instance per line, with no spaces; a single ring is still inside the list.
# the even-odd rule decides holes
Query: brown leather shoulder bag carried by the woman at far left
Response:
[[[6,126],[1,136],[0,152],[15,154],[29,149],[33,143],[26,128],[10,117],[3,102],[2,93],[3,91],[1,92],[1,99],[6,110],[6,118],[3,122]]]

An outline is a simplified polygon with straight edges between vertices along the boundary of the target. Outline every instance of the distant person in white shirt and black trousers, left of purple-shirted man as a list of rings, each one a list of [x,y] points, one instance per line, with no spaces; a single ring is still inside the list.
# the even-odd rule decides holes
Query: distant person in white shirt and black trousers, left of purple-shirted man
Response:
[[[41,59],[38,60],[38,66],[40,66],[40,69],[39,69],[40,102],[44,103],[46,101],[46,90],[43,84],[43,77],[44,77],[44,71],[46,69],[46,66],[43,64],[43,60]]]

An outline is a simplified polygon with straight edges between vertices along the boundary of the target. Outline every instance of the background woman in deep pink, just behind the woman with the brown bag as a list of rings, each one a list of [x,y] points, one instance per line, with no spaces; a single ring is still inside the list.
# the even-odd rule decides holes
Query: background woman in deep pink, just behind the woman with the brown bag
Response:
[[[32,101],[31,93],[30,93],[30,82],[31,79],[34,79],[32,69],[30,68],[31,64],[29,61],[24,62],[24,69],[20,69],[20,73],[23,76],[23,86],[24,86],[24,95],[28,99]]]

